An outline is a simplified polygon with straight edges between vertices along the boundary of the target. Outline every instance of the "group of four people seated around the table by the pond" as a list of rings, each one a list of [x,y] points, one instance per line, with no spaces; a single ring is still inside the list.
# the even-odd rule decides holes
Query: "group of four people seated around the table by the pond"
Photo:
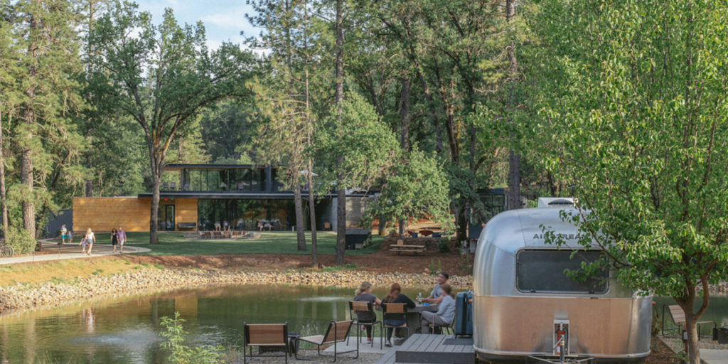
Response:
[[[429,297],[417,298],[419,301],[427,304],[438,304],[437,312],[422,312],[422,323],[420,328],[422,333],[430,333],[430,325],[448,326],[453,323],[455,318],[455,297],[450,285],[447,281],[450,276],[447,272],[438,274],[438,282],[432,289]],[[379,300],[371,293],[372,285],[370,282],[362,282],[355,292],[354,301],[365,301],[381,306],[381,304],[405,304],[412,309],[416,306],[414,301],[402,293],[402,287],[399,283],[392,283],[389,293],[384,299]],[[357,321],[359,323],[373,323],[376,321],[375,312],[357,312]],[[384,314],[384,325],[387,327],[387,340],[385,345],[392,346],[392,333],[394,328],[404,325],[406,322],[405,314]],[[372,325],[365,325],[368,343],[372,340]]]

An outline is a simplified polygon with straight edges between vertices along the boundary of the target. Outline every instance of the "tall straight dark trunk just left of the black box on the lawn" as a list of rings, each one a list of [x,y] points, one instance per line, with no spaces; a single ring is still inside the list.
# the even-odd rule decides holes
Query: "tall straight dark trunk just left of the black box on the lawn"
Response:
[[[343,29],[344,0],[336,0],[336,124],[341,125],[341,103],[344,102],[344,29]],[[336,167],[344,165],[344,157],[336,158]],[[344,248],[347,244],[347,186],[344,183],[344,173],[336,174],[339,182],[336,191],[336,264],[344,264]]]

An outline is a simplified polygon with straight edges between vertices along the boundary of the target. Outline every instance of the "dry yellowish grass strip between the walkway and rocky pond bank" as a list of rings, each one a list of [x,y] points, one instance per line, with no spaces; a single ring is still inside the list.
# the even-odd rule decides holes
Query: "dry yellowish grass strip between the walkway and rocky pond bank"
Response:
[[[76,277],[111,275],[138,269],[139,265],[118,258],[68,259],[36,264],[10,264],[0,266],[0,285],[15,283],[74,282]]]

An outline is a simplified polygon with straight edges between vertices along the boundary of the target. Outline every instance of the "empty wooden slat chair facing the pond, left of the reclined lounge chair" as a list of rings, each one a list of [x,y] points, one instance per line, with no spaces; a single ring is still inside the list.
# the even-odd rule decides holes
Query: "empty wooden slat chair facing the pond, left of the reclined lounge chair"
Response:
[[[288,323],[276,324],[248,324],[243,323],[243,342],[242,361],[248,364],[250,358],[253,357],[285,357],[285,363],[288,363]],[[253,347],[282,347],[283,355],[253,355]],[[250,354],[248,354],[250,349]]]

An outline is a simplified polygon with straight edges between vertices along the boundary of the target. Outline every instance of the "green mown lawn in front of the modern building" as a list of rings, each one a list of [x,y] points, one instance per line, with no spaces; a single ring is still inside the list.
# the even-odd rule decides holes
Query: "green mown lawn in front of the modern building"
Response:
[[[333,232],[318,232],[319,254],[336,253],[336,234]],[[150,248],[151,252],[141,253],[151,256],[196,256],[205,254],[310,254],[311,234],[306,232],[306,248],[299,252],[296,250],[295,232],[261,232],[260,239],[250,240],[187,240],[181,232],[159,232],[159,244],[149,244],[149,233],[127,232],[128,245],[141,245]],[[97,242],[110,243],[109,234],[98,234]],[[349,256],[363,256],[379,250],[383,240],[379,235],[372,235],[372,245],[361,250],[347,250]]]

